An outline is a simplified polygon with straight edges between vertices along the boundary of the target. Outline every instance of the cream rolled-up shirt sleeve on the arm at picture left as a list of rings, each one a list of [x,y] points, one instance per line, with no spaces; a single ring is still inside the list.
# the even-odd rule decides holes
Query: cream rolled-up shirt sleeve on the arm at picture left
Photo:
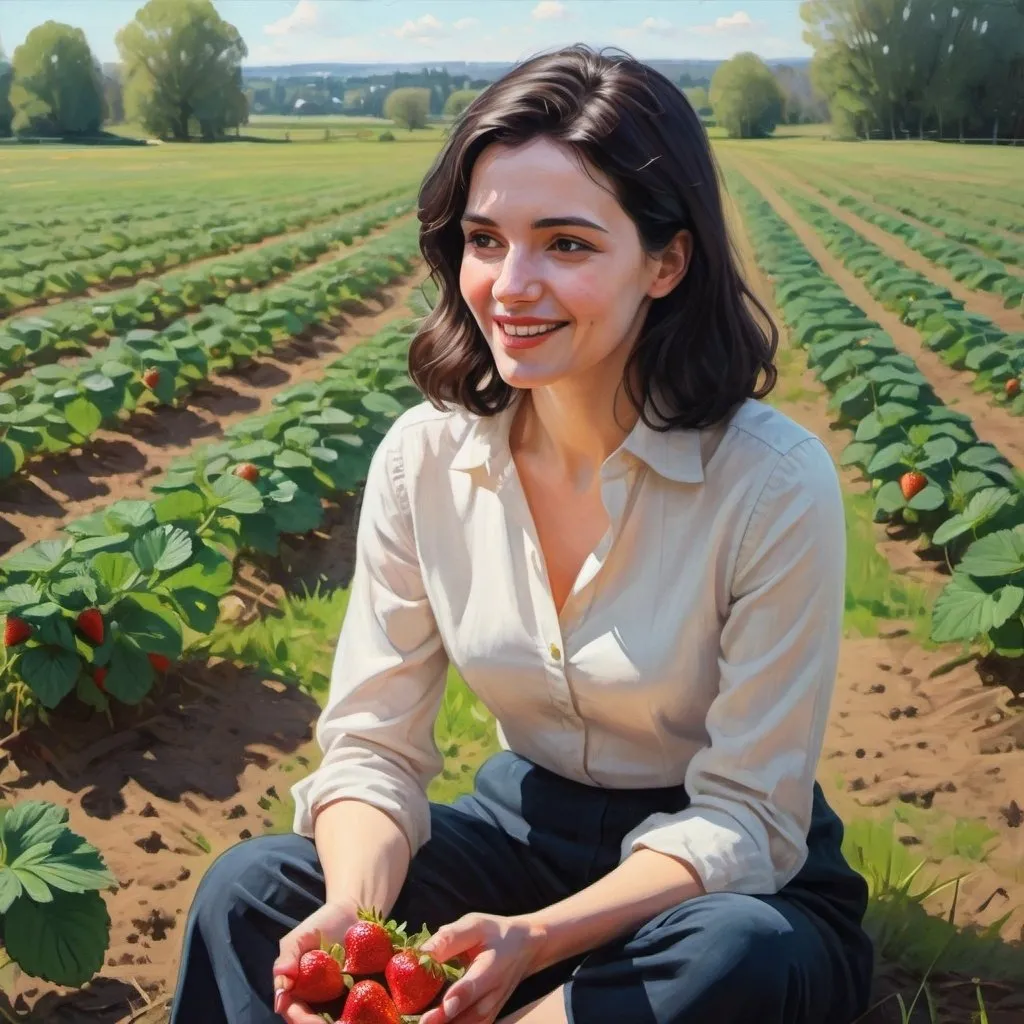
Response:
[[[328,702],[316,725],[319,766],[292,788],[293,829],[350,798],[402,829],[413,853],[430,836],[426,787],[442,765],[434,721],[449,657],[420,570],[402,459],[402,420],[370,464],[348,607]]]

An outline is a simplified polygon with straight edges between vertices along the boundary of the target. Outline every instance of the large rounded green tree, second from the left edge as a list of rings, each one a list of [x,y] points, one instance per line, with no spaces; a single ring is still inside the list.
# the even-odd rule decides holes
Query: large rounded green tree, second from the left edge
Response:
[[[213,139],[245,122],[241,69],[249,51],[211,0],[148,0],[117,43],[125,109],[147,131],[187,141],[196,118]]]

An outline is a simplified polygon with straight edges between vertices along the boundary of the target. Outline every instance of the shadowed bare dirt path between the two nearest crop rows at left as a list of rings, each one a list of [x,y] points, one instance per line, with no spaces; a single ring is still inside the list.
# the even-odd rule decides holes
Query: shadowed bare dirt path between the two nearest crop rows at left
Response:
[[[144,410],[118,428],[97,431],[84,449],[36,460],[4,483],[0,556],[52,536],[65,523],[122,498],[148,494],[154,477],[197,443],[266,412],[280,391],[319,376],[359,341],[394,318],[420,285],[419,268],[356,314],[337,317],[283,343],[272,355],[219,374],[179,408]]]

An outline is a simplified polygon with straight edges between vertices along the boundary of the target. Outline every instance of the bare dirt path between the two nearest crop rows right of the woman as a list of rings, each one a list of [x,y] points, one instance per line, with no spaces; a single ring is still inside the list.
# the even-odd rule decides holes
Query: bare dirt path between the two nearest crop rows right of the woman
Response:
[[[898,348],[918,364],[939,398],[945,404],[967,413],[973,421],[978,437],[993,444],[1011,465],[1024,470],[1024,426],[1021,419],[1012,416],[998,406],[993,406],[984,395],[975,394],[971,390],[969,375],[950,369],[938,355],[929,351],[922,343],[921,335],[909,325],[903,324],[895,313],[886,309],[867,291],[860,279],[831,255],[814,228],[785,202],[768,180],[761,176],[751,176],[749,164],[737,169],[748,175],[775,212],[788,222],[822,269],[842,287],[867,316],[889,334]]]

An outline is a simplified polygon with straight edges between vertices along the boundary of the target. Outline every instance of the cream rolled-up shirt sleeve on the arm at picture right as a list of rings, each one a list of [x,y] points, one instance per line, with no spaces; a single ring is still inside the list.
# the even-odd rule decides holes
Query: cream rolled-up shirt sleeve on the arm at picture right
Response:
[[[688,863],[708,892],[775,893],[807,859],[814,778],[843,632],[846,523],[827,450],[775,457],[736,558],[708,744],[690,804],[623,842]]]

